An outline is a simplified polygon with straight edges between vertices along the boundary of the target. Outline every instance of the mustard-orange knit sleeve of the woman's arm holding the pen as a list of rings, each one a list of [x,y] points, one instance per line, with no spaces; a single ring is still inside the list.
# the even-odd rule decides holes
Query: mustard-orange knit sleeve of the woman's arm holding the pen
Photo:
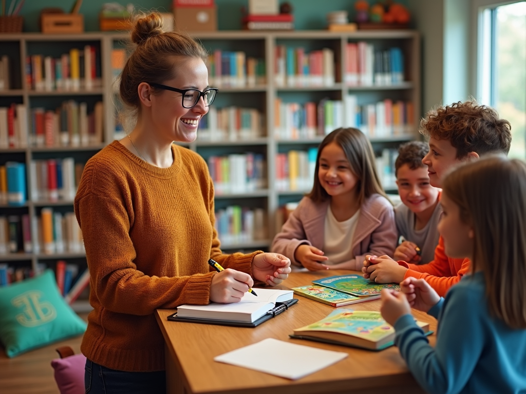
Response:
[[[89,177],[86,174],[86,177]],[[85,182],[89,180],[84,178]],[[208,304],[214,273],[148,276],[137,270],[130,218],[123,201],[93,192],[77,195],[75,214],[82,229],[91,291],[108,310],[149,315],[157,308]],[[140,302],[137,296],[140,295]]]

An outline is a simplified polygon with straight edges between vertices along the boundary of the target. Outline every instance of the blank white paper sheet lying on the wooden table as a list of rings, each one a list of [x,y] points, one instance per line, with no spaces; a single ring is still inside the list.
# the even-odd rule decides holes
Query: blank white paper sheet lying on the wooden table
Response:
[[[264,339],[214,357],[215,361],[296,380],[326,368],[348,356],[340,351]]]

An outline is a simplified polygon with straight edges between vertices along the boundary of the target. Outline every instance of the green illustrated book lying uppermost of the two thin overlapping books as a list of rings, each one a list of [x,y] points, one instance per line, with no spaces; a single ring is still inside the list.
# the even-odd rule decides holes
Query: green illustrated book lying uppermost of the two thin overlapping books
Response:
[[[316,279],[312,281],[312,283],[360,297],[380,294],[383,288],[396,291],[400,290],[400,285],[396,283],[378,284],[360,275],[330,276],[328,278]]]

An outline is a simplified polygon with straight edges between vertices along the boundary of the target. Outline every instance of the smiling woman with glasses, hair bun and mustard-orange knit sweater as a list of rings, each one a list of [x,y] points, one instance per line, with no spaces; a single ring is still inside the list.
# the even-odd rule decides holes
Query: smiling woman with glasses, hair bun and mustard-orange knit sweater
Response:
[[[94,308],[80,348],[86,392],[166,392],[156,309],[239,302],[254,279],[274,286],[290,272],[280,254],[221,252],[206,162],[173,144],[196,139],[217,89],[206,51],[161,21],[139,18],[131,33],[120,96],[135,127],[86,163],[75,198]],[[211,272],[210,258],[226,269]]]

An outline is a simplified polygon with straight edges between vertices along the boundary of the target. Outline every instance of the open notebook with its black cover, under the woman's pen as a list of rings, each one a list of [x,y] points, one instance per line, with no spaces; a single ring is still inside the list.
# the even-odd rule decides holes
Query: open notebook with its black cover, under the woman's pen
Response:
[[[279,315],[298,302],[292,290],[258,288],[257,296],[245,293],[238,303],[208,305],[180,305],[168,320],[238,327],[256,327]]]

